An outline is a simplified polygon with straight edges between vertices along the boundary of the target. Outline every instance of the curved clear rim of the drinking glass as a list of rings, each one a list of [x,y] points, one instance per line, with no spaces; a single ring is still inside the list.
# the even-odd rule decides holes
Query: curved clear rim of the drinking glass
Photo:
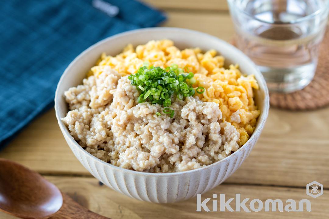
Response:
[[[240,11],[242,14],[254,19],[254,20],[257,20],[259,22],[262,22],[262,23],[266,23],[266,24],[274,24],[274,25],[287,25],[287,24],[296,24],[296,23],[300,23],[300,22],[303,22],[305,20],[309,20],[319,14],[322,14],[324,11],[328,10],[329,11],[329,0],[325,0],[324,2],[324,7],[323,8],[320,8],[316,11],[314,11],[313,13],[311,14],[308,14],[306,15],[305,17],[301,17],[301,18],[297,18],[296,20],[294,21],[290,21],[290,22],[280,22],[280,23],[275,23],[275,22],[268,22],[268,21],[265,21],[265,20],[262,20],[262,19],[259,19],[257,17],[255,17],[254,15],[240,9],[240,7],[238,7],[235,3],[234,3],[234,0],[227,0],[227,2],[229,3],[229,7],[232,8],[232,6],[230,6],[230,4],[233,4],[235,7],[233,10],[237,10],[237,11]],[[328,15],[327,15],[328,16]]]

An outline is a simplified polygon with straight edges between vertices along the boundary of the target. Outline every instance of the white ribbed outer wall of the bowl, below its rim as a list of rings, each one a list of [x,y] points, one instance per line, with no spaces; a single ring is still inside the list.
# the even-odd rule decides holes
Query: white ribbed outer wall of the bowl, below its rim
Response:
[[[86,156],[70,139],[66,139],[81,164],[106,186],[132,198],[154,203],[173,203],[187,200],[198,193],[204,193],[224,182],[234,173],[248,156],[253,144],[249,142],[230,159],[178,174],[141,174],[109,166],[107,163]]]

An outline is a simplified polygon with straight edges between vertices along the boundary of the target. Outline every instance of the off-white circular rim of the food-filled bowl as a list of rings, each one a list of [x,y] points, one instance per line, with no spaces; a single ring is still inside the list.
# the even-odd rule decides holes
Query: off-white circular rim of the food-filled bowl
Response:
[[[156,177],[164,177],[164,176],[177,176],[177,175],[184,175],[184,174],[191,174],[193,172],[197,172],[197,171],[202,171],[202,170],[206,170],[209,168],[214,167],[215,165],[219,165],[229,159],[233,159],[233,157],[238,156],[238,154],[240,154],[240,152],[242,150],[244,150],[245,147],[243,147],[244,145],[242,145],[237,151],[235,151],[233,154],[227,156],[226,158],[217,161],[213,164],[209,164],[206,165],[204,167],[200,167],[197,169],[192,169],[192,170],[187,170],[187,171],[182,171],[182,172],[173,172],[173,173],[149,173],[149,172],[140,172],[140,171],[136,171],[136,170],[130,170],[130,169],[125,169],[119,166],[115,166],[113,164],[109,164],[105,161],[102,161],[99,158],[96,158],[95,156],[91,155],[90,153],[88,153],[84,148],[82,148],[73,138],[73,136],[70,134],[70,132],[68,131],[67,127],[65,126],[65,124],[63,123],[63,121],[60,118],[59,115],[59,111],[61,110],[61,108],[59,107],[58,102],[60,101],[60,98],[62,98],[63,94],[59,94],[59,87],[61,86],[62,82],[63,82],[63,78],[66,74],[69,74],[69,70],[70,68],[75,64],[75,62],[77,62],[81,57],[83,57],[86,53],[88,53],[89,51],[93,50],[93,48],[97,47],[100,44],[103,44],[107,41],[111,41],[113,39],[119,38],[121,36],[125,36],[125,35],[132,35],[135,33],[140,33],[140,32],[148,32],[148,31],[182,31],[182,32],[188,32],[189,34],[198,34],[198,35],[203,35],[205,37],[208,38],[213,38],[216,41],[219,41],[222,44],[226,44],[226,46],[231,47],[232,50],[234,50],[235,53],[237,53],[239,56],[244,57],[246,60],[248,60],[248,62],[250,62],[250,64],[252,64],[252,66],[254,67],[254,74],[258,76],[258,78],[260,80],[257,80],[258,84],[261,85],[260,87],[264,88],[264,93],[265,93],[265,97],[263,100],[263,111],[261,111],[261,114],[258,118],[258,126],[256,127],[256,129],[254,130],[254,132],[252,133],[251,137],[248,139],[248,141],[244,144],[252,144],[253,141],[257,141],[257,139],[259,138],[260,133],[262,132],[267,116],[268,116],[268,110],[269,110],[269,94],[268,94],[268,89],[266,86],[266,82],[265,79],[263,77],[263,75],[261,74],[260,70],[257,68],[257,66],[254,64],[253,61],[251,61],[251,59],[246,56],[245,54],[243,54],[242,51],[240,51],[239,49],[237,49],[235,46],[231,45],[230,43],[216,37],[213,36],[211,34],[208,33],[202,33],[200,31],[195,31],[195,30],[190,30],[190,29],[185,29],[185,28],[176,28],[176,27],[152,27],[152,28],[141,28],[141,29],[136,29],[136,30],[131,30],[131,31],[126,31],[126,32],[122,32],[122,33],[118,33],[115,34],[113,36],[107,37],[93,45],[91,45],[90,47],[88,47],[86,50],[84,50],[82,53],[80,53],[76,58],[74,58],[74,60],[67,66],[67,68],[65,69],[64,73],[62,74],[57,87],[56,87],[56,92],[55,92],[55,114],[56,114],[56,118],[58,121],[58,124],[60,126],[60,129],[65,137],[65,135],[68,137],[68,139],[70,140],[71,145],[74,145],[74,147],[76,147],[78,150],[82,151],[82,153],[87,156],[90,159],[93,159],[96,162],[101,162],[103,163],[103,165],[109,167],[109,168],[113,168],[116,171],[122,171],[122,172],[126,172],[126,173],[130,173],[130,174],[135,174],[135,175],[144,175],[144,176],[156,176]],[[219,51],[220,52],[220,51]],[[255,140],[256,138],[256,140]],[[65,138],[67,140],[67,138]],[[69,142],[67,142],[68,144],[70,144]],[[70,146],[70,145],[69,145]],[[251,150],[251,149],[250,149]],[[88,163],[88,162],[87,162]],[[87,169],[88,170],[88,169]]]

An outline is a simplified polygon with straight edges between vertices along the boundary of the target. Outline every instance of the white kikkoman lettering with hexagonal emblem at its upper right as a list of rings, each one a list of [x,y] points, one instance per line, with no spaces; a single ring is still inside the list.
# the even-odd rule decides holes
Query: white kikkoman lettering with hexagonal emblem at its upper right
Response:
[[[323,185],[313,181],[307,184],[306,194],[313,198],[316,198],[323,194]],[[201,194],[196,195],[196,211],[241,211],[245,212],[258,212],[264,209],[264,211],[312,211],[311,202],[308,199],[302,199],[295,201],[293,199],[287,199],[282,201],[281,199],[267,199],[263,202],[260,199],[252,199],[247,205],[250,198],[241,200],[241,194],[235,194],[235,198],[225,199],[225,194],[213,194],[213,200],[211,198],[202,200]],[[208,207],[207,203],[209,202]],[[235,203],[235,209],[232,208],[231,204]],[[211,205],[210,205],[211,204]],[[305,207],[305,208],[304,208]]]

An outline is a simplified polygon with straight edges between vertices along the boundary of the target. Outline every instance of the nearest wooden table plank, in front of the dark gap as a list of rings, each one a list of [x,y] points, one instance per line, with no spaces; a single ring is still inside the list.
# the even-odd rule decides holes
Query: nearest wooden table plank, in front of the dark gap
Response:
[[[216,193],[225,193],[225,200],[235,198],[235,194],[241,194],[241,198],[258,198],[265,202],[266,199],[294,199],[298,202],[301,199],[311,201],[311,212],[196,212],[196,198],[175,204],[154,204],[142,202],[120,194],[106,186],[100,186],[94,178],[82,177],[46,177],[49,181],[67,193],[73,200],[91,211],[97,212],[105,217],[113,219],[151,219],[151,218],[189,218],[189,219],[302,219],[327,218],[329,214],[329,197],[322,195],[316,199],[306,195],[305,188],[284,188],[273,186],[240,186],[240,185],[220,185],[202,195],[202,200],[212,198]],[[326,192],[326,191],[325,191]],[[213,198],[211,201],[214,200]],[[219,200],[217,198],[217,200]],[[246,203],[249,208],[250,200]],[[209,201],[207,206],[212,209]],[[219,202],[219,201],[218,201]],[[230,204],[235,209],[235,200]],[[219,208],[218,208],[219,209]],[[1,219],[14,219],[15,217],[0,213]],[[77,217],[79,218],[79,217]]]

